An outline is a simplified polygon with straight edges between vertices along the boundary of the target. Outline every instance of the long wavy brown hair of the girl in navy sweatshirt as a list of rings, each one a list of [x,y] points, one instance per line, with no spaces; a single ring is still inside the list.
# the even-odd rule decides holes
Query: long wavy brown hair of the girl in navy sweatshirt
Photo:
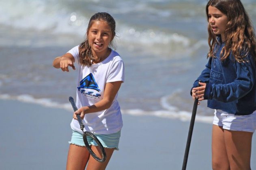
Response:
[[[237,62],[244,62],[245,57],[251,54],[256,59],[256,39],[252,23],[240,0],[209,0],[206,6],[207,20],[208,7],[213,6],[227,15],[228,23],[226,25],[225,45],[221,51],[221,60],[228,58],[230,53]],[[219,43],[217,37],[208,24],[208,44],[210,46],[207,57],[215,57],[214,46]]]

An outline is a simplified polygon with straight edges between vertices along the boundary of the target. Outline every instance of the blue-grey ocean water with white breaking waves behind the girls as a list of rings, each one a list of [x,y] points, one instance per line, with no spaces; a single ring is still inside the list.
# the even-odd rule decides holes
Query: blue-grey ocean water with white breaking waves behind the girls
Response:
[[[256,24],[255,0],[242,0]],[[72,110],[77,72],[52,67],[84,40],[88,20],[116,20],[116,51],[125,62],[118,93],[124,114],[189,120],[190,89],[207,63],[207,0],[0,1],[0,98]],[[197,119],[211,122],[204,101]]]

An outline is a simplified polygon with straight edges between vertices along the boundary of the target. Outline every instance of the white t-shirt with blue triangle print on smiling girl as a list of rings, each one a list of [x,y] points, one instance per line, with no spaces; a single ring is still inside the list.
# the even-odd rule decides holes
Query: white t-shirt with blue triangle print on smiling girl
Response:
[[[106,83],[123,81],[124,64],[119,54],[112,50],[110,55],[100,63],[91,66],[82,66],[79,63],[79,46],[69,50],[78,64],[76,106],[91,106],[103,99]],[[84,131],[94,134],[112,134],[123,127],[120,106],[116,100],[116,94],[110,108],[95,113],[87,113],[84,116]],[[82,133],[77,120],[71,121],[71,128]]]

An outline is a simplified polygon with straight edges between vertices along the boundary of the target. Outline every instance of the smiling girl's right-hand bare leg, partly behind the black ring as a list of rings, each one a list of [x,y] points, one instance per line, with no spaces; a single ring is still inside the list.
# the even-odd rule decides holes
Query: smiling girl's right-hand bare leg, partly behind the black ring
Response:
[[[98,146],[91,146],[93,152],[99,157],[102,158],[101,150]],[[91,155],[88,161],[87,170],[105,170],[110,161],[110,158],[115,150],[115,148],[104,148],[106,152],[106,161],[105,162],[98,162],[96,161]]]

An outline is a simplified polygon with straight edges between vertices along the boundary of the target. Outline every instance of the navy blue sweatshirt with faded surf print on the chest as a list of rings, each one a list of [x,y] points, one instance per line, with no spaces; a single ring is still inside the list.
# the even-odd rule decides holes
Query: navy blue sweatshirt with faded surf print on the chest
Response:
[[[204,99],[207,106],[220,109],[234,115],[250,115],[256,110],[256,64],[251,55],[245,62],[237,62],[232,54],[220,60],[220,52],[224,43],[215,46],[216,57],[209,58],[206,68],[194,82],[206,83]]]

